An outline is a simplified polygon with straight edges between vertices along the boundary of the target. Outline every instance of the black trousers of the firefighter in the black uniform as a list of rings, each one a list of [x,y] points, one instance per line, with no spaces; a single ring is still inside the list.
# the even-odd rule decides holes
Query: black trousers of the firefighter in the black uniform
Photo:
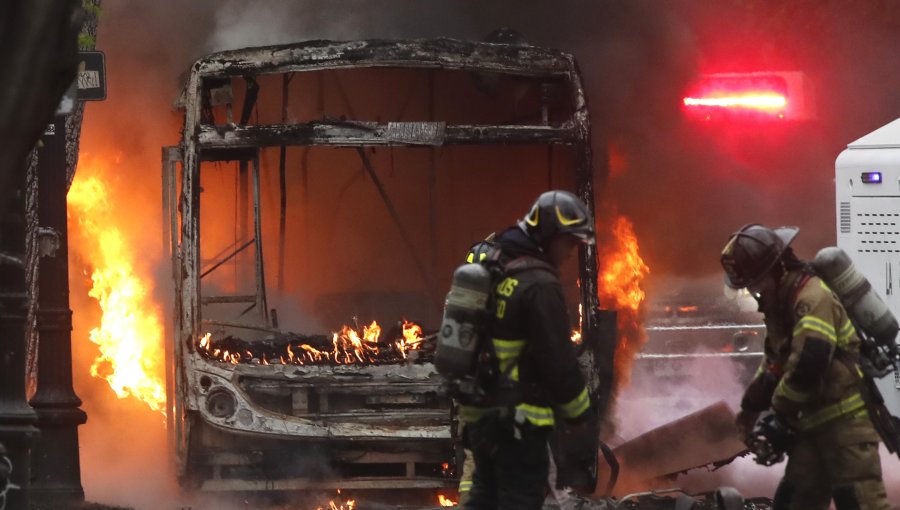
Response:
[[[515,432],[511,419],[482,419],[466,426],[475,459],[465,510],[540,510],[549,470],[549,432]]]

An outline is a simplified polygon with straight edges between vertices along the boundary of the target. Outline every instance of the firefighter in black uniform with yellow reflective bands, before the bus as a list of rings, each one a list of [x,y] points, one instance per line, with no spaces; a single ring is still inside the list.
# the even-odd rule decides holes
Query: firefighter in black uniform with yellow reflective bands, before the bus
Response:
[[[540,509],[549,471],[547,440],[556,415],[587,427],[591,401],[569,341],[569,315],[557,271],[579,243],[594,242],[590,211],[575,195],[548,191],[500,233],[509,268],[495,288],[491,344],[499,375],[491,405],[460,405],[475,470],[467,510]],[[585,437],[596,436],[587,431]],[[594,455],[585,448],[585,468]]]

